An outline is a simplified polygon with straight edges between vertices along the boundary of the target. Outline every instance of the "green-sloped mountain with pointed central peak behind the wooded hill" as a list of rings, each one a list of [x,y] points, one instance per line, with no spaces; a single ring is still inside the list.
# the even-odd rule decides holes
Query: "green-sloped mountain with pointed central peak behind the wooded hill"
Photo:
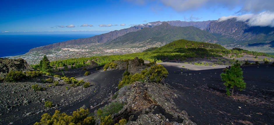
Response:
[[[152,28],[143,28],[140,31],[127,33],[113,41],[107,42],[106,46],[112,48],[145,47],[147,45],[167,44],[174,40],[185,39],[201,42],[213,42],[217,40],[214,35],[202,31],[193,26],[178,27],[163,22]]]

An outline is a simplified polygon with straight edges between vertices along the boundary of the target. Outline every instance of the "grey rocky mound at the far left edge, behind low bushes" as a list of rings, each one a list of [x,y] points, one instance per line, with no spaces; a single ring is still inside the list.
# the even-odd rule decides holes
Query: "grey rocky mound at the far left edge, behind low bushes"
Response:
[[[3,78],[10,71],[29,71],[33,70],[26,60],[22,58],[7,59],[0,58],[0,77]]]

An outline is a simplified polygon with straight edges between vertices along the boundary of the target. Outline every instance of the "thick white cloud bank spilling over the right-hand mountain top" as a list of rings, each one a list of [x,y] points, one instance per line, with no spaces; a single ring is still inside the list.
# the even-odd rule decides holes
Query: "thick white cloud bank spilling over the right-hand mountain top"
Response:
[[[218,19],[218,22],[225,21],[231,18],[236,18],[237,21],[246,22],[249,26],[274,27],[274,13],[270,11],[264,11],[259,14],[246,14],[246,15],[240,15],[240,16],[221,17],[220,19]]]

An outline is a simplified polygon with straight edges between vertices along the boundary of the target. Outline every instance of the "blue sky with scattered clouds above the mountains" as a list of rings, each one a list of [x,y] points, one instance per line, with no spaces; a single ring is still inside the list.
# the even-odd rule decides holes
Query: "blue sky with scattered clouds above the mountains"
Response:
[[[274,26],[274,0],[0,1],[0,32],[109,32],[154,21],[237,17]]]

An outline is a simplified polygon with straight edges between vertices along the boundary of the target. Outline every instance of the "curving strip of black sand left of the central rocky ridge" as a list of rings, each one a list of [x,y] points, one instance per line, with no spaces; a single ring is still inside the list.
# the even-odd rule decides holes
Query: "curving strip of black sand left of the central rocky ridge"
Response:
[[[84,76],[84,73],[86,71],[82,71],[82,68],[69,70],[67,72],[64,72],[64,74],[65,76],[69,76],[69,77],[74,76],[77,79],[83,79],[84,81],[89,81],[90,83],[93,82],[96,88],[96,92],[89,92],[90,95],[86,97],[85,99],[83,99],[82,101],[77,103],[70,103],[68,106],[65,106],[65,107],[58,107],[58,110],[71,115],[73,111],[77,110],[83,105],[89,108],[90,112],[94,112],[95,109],[103,107],[104,105],[108,103],[103,101],[106,98],[111,97],[112,94],[114,94],[118,90],[116,87],[118,86],[119,81],[121,81],[122,74],[124,73],[123,70],[118,70],[118,69],[105,71],[105,72],[98,72],[95,70],[95,68],[92,68],[92,69],[87,69],[87,71],[91,72],[91,74],[88,76]],[[61,75],[61,73],[56,73],[56,74]],[[93,107],[96,106],[96,107],[91,109],[90,106],[93,106]],[[54,112],[55,112],[55,109],[51,109],[50,111],[47,111],[44,113],[50,113],[52,115]],[[31,115],[28,117],[24,117],[24,119],[19,118],[19,120],[14,122],[14,124],[24,124],[24,125],[34,124],[35,122],[38,122],[41,119],[41,115],[42,114],[40,113],[38,115]]]

